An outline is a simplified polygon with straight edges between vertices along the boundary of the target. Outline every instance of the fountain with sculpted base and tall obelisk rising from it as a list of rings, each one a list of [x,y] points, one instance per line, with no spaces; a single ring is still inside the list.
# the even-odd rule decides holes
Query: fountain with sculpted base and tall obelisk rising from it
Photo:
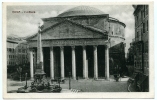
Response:
[[[42,26],[39,24],[38,40],[37,40],[37,67],[35,70],[34,81],[30,86],[27,84],[27,73],[25,74],[26,85],[18,88],[17,93],[52,93],[60,92],[60,80],[58,79],[59,85],[51,85],[46,78],[46,73],[43,70],[43,59],[42,59],[42,46],[41,46],[41,29]]]

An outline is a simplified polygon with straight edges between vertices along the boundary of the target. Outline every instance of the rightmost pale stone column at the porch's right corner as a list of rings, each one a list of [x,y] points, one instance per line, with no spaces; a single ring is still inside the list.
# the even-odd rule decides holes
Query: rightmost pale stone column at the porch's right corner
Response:
[[[105,48],[105,77],[109,80],[109,48]]]

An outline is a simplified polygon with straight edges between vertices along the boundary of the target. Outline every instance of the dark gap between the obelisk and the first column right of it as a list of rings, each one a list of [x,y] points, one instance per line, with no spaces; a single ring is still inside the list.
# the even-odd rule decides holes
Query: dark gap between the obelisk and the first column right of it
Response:
[[[43,48],[43,61],[44,61],[44,71],[48,77],[50,77],[50,48]]]

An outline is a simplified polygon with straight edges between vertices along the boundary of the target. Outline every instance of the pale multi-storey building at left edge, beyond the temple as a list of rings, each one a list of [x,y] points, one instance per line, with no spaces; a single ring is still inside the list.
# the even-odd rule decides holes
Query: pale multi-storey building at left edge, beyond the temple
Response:
[[[28,45],[25,40],[7,37],[7,66],[17,66],[29,63]]]

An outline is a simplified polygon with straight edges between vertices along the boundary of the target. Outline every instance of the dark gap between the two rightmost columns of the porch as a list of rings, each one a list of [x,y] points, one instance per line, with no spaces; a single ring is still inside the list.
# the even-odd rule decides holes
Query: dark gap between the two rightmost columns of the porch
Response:
[[[105,77],[105,46],[99,45],[97,47],[98,55],[98,76]]]

